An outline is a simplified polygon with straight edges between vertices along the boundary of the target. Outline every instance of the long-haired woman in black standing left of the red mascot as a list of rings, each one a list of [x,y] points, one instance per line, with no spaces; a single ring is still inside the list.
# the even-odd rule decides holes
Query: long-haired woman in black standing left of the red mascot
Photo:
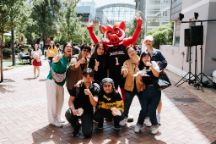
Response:
[[[89,68],[94,70],[94,81],[100,84],[101,80],[107,77],[106,53],[102,43],[95,46],[95,50],[89,61]]]

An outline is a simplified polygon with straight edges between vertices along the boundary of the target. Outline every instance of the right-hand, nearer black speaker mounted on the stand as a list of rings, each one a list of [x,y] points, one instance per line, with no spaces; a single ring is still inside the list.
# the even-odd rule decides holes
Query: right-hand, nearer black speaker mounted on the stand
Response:
[[[203,45],[203,26],[191,26],[191,46]]]

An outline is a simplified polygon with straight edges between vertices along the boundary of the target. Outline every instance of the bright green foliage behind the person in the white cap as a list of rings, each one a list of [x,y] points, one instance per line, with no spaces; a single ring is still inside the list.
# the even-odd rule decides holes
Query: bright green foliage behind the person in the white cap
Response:
[[[148,32],[148,35],[154,37],[154,47],[159,48],[160,45],[170,45],[173,40],[173,23],[161,25],[152,31]]]

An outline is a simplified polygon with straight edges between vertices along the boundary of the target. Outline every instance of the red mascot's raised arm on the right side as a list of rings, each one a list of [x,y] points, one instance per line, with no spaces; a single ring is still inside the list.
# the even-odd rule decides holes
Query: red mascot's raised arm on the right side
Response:
[[[139,35],[140,35],[141,31],[142,31],[142,19],[137,18],[136,19],[136,24],[137,24],[137,26],[136,26],[136,29],[135,29],[135,31],[133,33],[133,36],[123,40],[123,45],[126,46],[126,47],[131,45],[131,44],[135,44],[137,42],[138,38],[139,38]]]

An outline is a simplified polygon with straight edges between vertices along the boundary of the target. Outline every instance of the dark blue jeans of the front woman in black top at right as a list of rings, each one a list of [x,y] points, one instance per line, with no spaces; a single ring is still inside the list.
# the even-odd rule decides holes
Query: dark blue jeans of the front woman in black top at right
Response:
[[[156,110],[160,102],[161,90],[156,88],[154,85],[146,87],[142,94],[141,111],[138,117],[138,124],[143,125],[145,117],[148,115],[152,125],[157,125]]]

